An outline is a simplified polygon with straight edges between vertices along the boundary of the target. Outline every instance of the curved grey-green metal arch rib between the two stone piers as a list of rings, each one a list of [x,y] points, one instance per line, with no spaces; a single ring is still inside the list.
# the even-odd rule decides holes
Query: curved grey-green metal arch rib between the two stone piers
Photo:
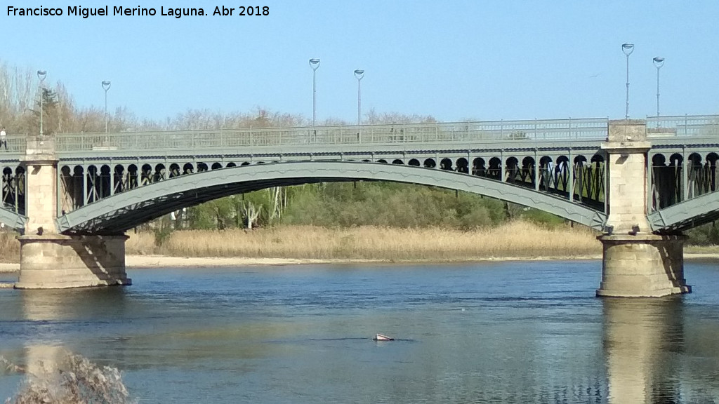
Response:
[[[64,234],[118,234],[186,206],[222,196],[273,186],[303,183],[381,180],[463,190],[531,206],[594,229],[602,229],[603,212],[496,180],[454,171],[374,162],[278,162],[210,170],[127,190],[58,218]]]

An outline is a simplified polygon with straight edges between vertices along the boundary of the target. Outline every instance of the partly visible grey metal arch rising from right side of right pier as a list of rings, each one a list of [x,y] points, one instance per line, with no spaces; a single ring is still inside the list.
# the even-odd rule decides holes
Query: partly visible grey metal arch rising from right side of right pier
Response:
[[[647,215],[651,231],[660,234],[692,229],[719,219],[719,192],[706,193],[651,212]]]

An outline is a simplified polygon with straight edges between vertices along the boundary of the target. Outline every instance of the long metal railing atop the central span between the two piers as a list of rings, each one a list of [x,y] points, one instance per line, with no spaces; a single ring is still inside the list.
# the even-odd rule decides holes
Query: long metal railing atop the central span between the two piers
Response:
[[[58,134],[58,151],[600,139],[606,118]]]

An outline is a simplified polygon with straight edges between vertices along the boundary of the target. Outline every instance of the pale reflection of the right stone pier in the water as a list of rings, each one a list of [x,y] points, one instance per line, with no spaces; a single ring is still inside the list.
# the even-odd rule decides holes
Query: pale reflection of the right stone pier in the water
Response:
[[[681,298],[603,300],[610,404],[679,403]]]

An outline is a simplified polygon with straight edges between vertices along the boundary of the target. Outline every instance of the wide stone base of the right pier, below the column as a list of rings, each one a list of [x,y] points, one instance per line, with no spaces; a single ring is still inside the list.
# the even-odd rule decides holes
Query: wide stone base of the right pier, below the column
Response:
[[[597,296],[657,298],[691,293],[684,280],[686,236],[620,234],[597,237],[603,244],[602,283]]]

